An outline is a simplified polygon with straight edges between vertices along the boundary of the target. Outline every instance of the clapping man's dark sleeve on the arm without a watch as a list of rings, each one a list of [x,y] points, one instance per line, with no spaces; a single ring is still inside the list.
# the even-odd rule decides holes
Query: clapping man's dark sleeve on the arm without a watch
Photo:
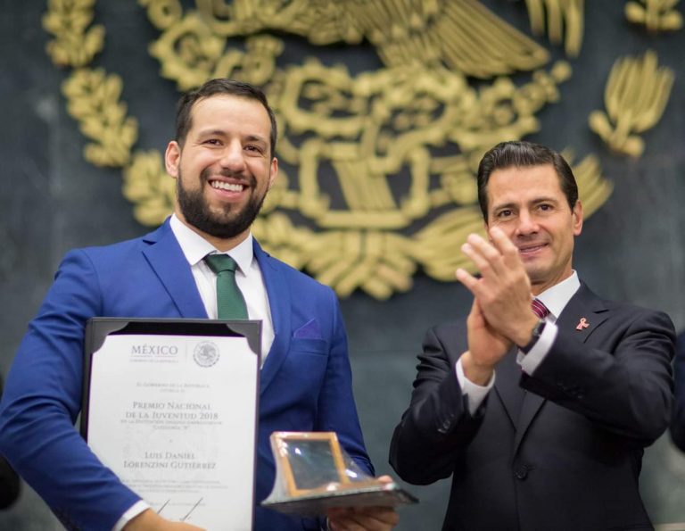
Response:
[[[466,351],[465,337],[456,327],[432,328],[425,336],[409,409],[395,427],[390,448],[392,468],[409,483],[428,485],[449,477],[481,425],[488,399],[472,417],[455,373]]]

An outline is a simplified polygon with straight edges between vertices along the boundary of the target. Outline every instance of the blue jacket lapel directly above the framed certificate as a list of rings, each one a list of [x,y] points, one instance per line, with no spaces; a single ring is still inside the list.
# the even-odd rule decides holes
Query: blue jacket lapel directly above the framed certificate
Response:
[[[207,319],[207,311],[197,291],[193,273],[176,236],[169,227],[169,220],[154,232],[144,236],[144,242],[150,244],[143,251],[145,259],[160,278],[178,314],[189,319]]]

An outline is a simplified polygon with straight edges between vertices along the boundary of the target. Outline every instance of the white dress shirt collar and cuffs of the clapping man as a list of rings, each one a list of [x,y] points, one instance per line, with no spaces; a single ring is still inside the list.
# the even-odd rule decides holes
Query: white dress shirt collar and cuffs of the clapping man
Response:
[[[532,349],[527,354],[521,351],[518,351],[516,354],[516,363],[521,365],[521,369],[526,374],[534,374],[535,369],[547,357],[549,349],[552,348],[552,344],[554,344],[554,340],[557,338],[557,319],[580,286],[581,281],[578,279],[578,273],[574,271],[569,278],[565,278],[565,280],[562,280],[555,286],[549,287],[536,297],[547,306],[549,315],[545,318],[547,321],[545,328],[543,328],[540,337],[532,346]],[[492,374],[492,378],[490,378],[487,385],[478,386],[466,378],[461,358],[455,364],[455,372],[459,386],[461,386],[461,391],[467,396],[468,411],[473,415],[478,406],[483,403],[485,396],[490,392],[492,386],[495,385],[495,374]]]

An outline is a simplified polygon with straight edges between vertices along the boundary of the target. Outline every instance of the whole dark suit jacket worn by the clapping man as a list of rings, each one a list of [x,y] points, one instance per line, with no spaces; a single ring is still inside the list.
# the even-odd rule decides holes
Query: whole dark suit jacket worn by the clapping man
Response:
[[[508,353],[474,417],[454,369],[466,322],[428,332],[390,461],[417,485],[452,476],[443,529],[652,528],[638,476],[668,426],[673,323],[582,285],[557,326],[533,376]]]

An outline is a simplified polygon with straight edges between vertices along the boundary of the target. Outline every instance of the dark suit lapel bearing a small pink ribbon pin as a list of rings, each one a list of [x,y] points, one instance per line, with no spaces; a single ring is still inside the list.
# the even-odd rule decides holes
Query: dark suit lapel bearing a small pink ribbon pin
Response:
[[[567,334],[572,334],[579,341],[585,343],[588,337],[604,322],[608,317],[607,308],[602,303],[602,300],[597,295],[590,291],[588,286],[581,283],[581,287],[575,293],[571,300],[566,304],[564,310],[561,312],[559,319],[557,319],[557,328],[561,332],[565,331]],[[582,321],[582,319],[585,319]],[[579,326],[582,323],[588,325]],[[549,353],[553,355],[553,353]],[[516,439],[514,442],[514,454],[518,451],[518,447],[523,441],[525,432],[531,426],[532,421],[541,411],[543,404],[547,402],[539,394],[525,393],[523,405],[521,406],[521,414],[518,418]]]

